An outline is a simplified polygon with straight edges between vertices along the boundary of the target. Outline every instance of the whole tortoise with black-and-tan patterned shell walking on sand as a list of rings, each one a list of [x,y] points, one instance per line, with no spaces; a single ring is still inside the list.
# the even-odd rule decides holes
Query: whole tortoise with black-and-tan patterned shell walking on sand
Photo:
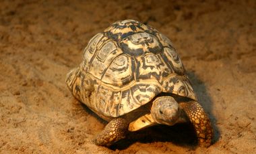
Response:
[[[117,21],[92,37],[82,63],[66,77],[73,96],[108,121],[94,138],[110,146],[129,131],[191,122],[201,147],[211,145],[210,119],[197,100],[172,42],[139,21]]]

